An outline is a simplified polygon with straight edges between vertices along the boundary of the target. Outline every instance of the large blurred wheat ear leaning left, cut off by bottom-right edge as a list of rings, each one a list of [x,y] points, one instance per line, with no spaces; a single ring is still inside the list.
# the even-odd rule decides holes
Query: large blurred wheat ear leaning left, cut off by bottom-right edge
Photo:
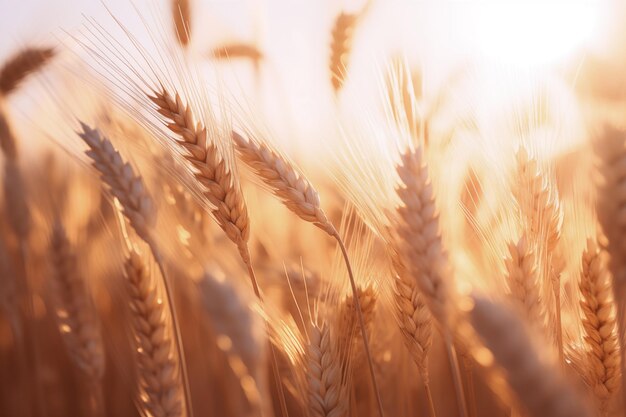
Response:
[[[470,321],[530,416],[591,417],[587,404],[559,369],[540,359],[524,323],[514,312],[475,296]]]

